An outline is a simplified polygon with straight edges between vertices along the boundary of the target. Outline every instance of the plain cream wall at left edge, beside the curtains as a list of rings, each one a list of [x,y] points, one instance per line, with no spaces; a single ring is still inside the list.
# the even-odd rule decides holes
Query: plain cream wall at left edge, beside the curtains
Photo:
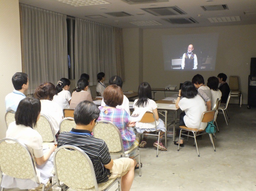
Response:
[[[18,0],[0,1],[0,139],[5,137],[5,96],[13,91],[11,78],[21,72],[20,12]]]

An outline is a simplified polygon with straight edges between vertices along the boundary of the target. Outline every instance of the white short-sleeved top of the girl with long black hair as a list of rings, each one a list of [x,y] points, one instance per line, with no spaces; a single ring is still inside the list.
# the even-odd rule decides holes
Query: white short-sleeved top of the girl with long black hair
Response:
[[[139,108],[138,106],[135,105],[137,101],[138,99],[136,99],[133,103],[134,109]],[[143,106],[143,108],[147,108],[147,111],[153,112],[153,110],[157,108],[157,104],[155,103],[154,100],[148,99],[148,103],[145,106]],[[159,120],[157,120],[156,125],[158,125],[159,123],[160,123]],[[145,128],[145,129],[154,128],[155,122],[152,122],[152,123],[136,122],[135,127]]]

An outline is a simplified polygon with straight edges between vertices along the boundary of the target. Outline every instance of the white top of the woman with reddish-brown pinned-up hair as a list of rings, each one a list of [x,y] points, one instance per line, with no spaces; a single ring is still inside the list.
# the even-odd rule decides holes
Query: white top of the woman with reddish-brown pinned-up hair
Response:
[[[50,100],[40,100],[41,101],[41,113],[46,115],[50,122],[52,123],[55,135],[59,131],[59,124],[63,117],[63,110],[58,105]]]

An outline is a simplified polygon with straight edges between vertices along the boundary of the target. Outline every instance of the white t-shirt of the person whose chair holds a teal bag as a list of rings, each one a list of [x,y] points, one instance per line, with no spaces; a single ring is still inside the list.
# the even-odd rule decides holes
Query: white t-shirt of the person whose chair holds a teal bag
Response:
[[[187,127],[197,129],[203,112],[206,112],[204,105],[204,100],[200,95],[196,95],[193,98],[183,97],[179,104],[180,109],[185,111],[186,115],[184,116],[184,122]],[[200,129],[204,130],[207,126],[207,123],[201,123]]]

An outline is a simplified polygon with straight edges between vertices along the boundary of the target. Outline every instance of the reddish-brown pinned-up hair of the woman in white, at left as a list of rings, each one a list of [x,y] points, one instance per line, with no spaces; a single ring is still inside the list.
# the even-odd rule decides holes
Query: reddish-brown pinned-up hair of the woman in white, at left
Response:
[[[55,86],[51,82],[40,84],[35,92],[35,97],[39,100],[46,100],[48,97],[49,100],[52,100],[54,95]]]

